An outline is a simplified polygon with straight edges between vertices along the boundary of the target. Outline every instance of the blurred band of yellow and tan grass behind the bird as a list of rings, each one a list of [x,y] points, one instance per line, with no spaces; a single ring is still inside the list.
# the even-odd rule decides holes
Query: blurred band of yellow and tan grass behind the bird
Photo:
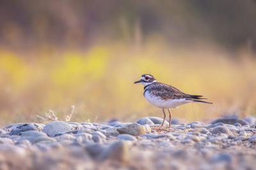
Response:
[[[76,106],[72,121],[102,121],[118,117],[133,121],[162,117],[133,82],[150,73],[189,94],[203,95],[214,104],[186,104],[173,117],[209,120],[237,111],[241,117],[256,108],[256,60],[250,49],[226,52],[209,46],[176,47],[147,41],[140,48],[123,43],[95,45],[86,51],[39,47],[33,57],[0,50],[0,124],[40,122],[48,109],[58,117]]]

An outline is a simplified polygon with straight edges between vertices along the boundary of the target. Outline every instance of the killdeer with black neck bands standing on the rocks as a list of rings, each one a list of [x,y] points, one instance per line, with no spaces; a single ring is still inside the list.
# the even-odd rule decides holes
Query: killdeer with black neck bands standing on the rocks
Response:
[[[143,74],[140,80],[135,81],[134,83],[141,83],[144,85],[143,95],[149,103],[153,104],[157,108],[161,108],[163,113],[164,109],[169,111],[169,127],[171,127],[172,120],[170,108],[177,108],[181,104],[191,102],[212,104],[206,101],[201,101],[202,99],[206,99],[202,98],[203,96],[185,94],[171,85],[159,83],[151,74]],[[164,120],[165,118],[166,114],[164,113]],[[163,127],[164,120],[161,127]]]

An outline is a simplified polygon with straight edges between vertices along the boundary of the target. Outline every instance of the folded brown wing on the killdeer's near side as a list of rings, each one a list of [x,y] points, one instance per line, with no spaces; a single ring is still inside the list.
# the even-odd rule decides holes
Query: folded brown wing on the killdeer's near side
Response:
[[[154,96],[161,97],[163,100],[188,98],[188,94],[181,92],[179,89],[159,82],[149,85],[146,90]]]

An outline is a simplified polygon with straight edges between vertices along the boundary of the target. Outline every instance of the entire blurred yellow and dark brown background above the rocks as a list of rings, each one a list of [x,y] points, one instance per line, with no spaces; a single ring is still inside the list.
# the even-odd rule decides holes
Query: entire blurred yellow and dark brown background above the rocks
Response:
[[[134,85],[150,73],[214,104],[173,117],[256,114],[256,1],[1,1],[0,125],[163,117]]]

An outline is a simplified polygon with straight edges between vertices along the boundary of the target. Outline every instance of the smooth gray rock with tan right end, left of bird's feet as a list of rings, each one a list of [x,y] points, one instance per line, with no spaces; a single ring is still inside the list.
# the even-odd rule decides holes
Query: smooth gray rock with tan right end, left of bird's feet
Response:
[[[142,125],[136,123],[118,127],[116,130],[120,132],[120,134],[131,134],[133,136],[145,134],[145,128]]]

